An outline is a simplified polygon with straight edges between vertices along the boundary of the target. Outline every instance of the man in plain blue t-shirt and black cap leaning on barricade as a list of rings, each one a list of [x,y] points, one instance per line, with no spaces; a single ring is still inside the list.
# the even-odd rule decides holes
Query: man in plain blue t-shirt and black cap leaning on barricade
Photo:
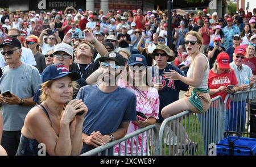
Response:
[[[129,122],[136,120],[136,95],[117,86],[116,82],[125,68],[122,55],[108,52],[99,61],[103,82],[81,87],[76,97],[82,99],[90,111],[85,116],[82,129],[84,145],[81,153],[122,138]],[[112,153],[111,148],[108,155]]]

